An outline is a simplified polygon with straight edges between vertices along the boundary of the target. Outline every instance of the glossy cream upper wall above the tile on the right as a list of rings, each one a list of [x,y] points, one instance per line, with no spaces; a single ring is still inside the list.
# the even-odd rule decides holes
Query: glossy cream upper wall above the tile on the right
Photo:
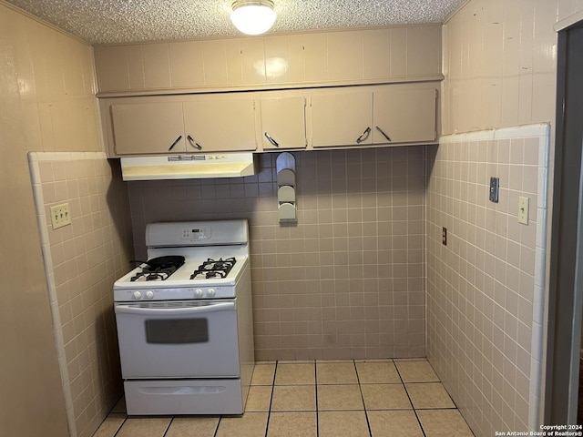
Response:
[[[444,135],[555,119],[554,25],[583,0],[471,0],[444,25]]]

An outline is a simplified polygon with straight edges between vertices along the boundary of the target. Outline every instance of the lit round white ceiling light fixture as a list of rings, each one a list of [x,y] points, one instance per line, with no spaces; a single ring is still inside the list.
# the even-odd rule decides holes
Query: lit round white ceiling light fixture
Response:
[[[235,0],[230,21],[243,34],[260,35],[275,23],[275,11],[271,0]]]

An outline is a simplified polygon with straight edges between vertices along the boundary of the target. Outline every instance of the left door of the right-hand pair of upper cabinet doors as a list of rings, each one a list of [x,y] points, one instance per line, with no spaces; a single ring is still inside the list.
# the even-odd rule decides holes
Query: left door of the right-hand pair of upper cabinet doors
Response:
[[[372,143],[373,94],[353,92],[311,97],[313,147]]]

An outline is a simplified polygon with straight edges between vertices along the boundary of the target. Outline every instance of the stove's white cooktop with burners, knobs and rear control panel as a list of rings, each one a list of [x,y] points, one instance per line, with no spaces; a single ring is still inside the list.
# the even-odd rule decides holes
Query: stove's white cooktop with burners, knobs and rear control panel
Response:
[[[149,224],[148,261],[116,281],[114,300],[234,298],[247,232],[245,220]]]

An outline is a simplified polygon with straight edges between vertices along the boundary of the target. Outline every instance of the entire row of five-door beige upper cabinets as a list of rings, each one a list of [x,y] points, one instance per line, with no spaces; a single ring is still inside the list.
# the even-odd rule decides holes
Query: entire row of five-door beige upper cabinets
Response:
[[[108,156],[435,144],[436,82],[101,100]]]

